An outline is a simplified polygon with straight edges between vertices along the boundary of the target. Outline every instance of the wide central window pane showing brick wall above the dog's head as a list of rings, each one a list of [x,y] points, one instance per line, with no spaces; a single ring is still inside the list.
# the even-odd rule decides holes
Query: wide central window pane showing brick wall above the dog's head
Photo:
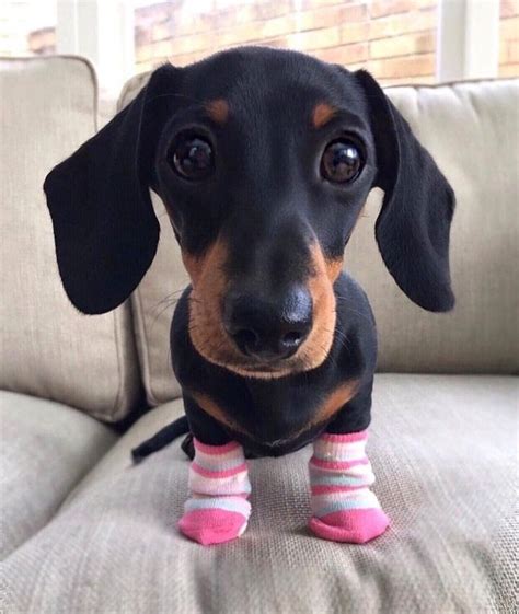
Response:
[[[368,68],[382,83],[435,81],[439,0],[170,0],[136,2],[136,69],[235,45],[310,53]]]

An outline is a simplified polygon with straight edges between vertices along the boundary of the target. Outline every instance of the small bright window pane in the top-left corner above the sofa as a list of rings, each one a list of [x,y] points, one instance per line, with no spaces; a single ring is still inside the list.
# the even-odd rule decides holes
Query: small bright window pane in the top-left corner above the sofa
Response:
[[[56,0],[0,1],[0,56],[54,54]]]

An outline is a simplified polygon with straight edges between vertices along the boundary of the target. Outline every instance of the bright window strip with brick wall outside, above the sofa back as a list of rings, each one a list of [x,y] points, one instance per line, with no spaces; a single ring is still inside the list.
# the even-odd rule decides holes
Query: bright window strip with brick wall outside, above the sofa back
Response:
[[[86,56],[107,97],[166,60],[249,44],[384,85],[519,76],[519,0],[0,0],[0,56]]]

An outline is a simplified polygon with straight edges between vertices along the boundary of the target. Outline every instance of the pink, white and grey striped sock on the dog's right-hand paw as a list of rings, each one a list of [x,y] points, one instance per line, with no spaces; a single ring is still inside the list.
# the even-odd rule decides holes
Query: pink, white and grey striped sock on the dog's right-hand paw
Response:
[[[310,459],[310,529],[324,540],[364,544],[381,535],[389,519],[369,487],[374,483],[366,456],[368,431],[324,433]]]

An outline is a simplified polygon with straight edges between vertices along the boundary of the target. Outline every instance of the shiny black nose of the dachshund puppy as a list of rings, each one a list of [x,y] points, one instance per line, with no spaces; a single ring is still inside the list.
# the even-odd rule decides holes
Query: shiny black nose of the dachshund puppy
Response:
[[[272,301],[253,293],[230,292],[223,321],[244,355],[262,361],[288,358],[312,328],[312,297],[301,286]]]

